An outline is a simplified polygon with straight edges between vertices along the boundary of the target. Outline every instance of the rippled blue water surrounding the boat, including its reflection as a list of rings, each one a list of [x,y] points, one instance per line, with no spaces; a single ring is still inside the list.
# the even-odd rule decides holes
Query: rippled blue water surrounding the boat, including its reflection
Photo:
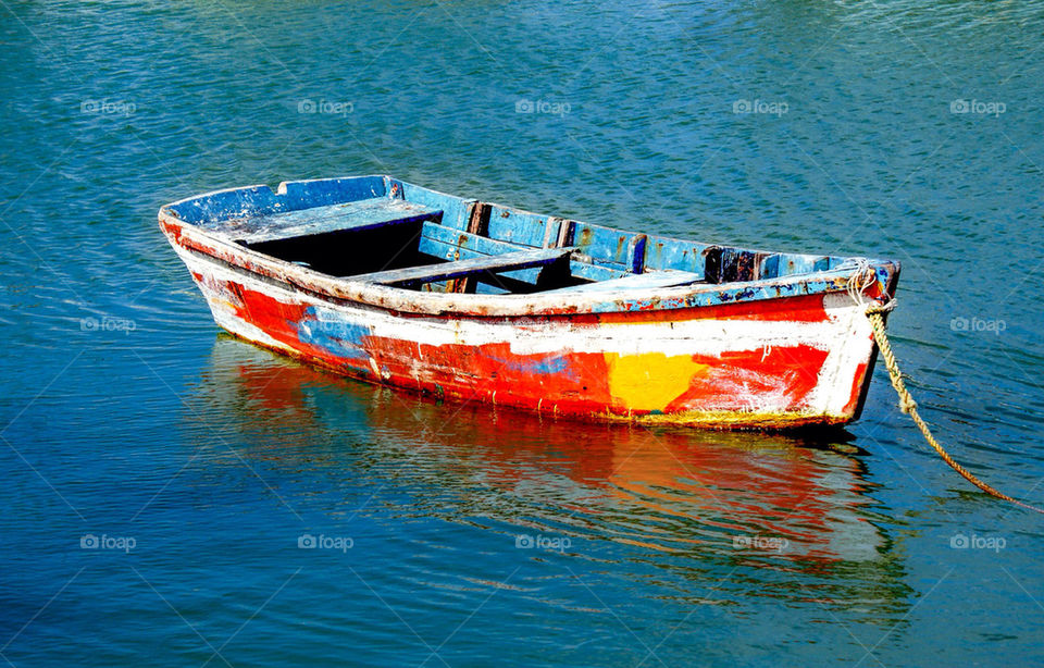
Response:
[[[1031,1],[0,3],[0,665],[1044,661],[1044,523],[880,367],[819,441],[437,405],[223,337],[156,226],[388,173],[895,258],[924,417],[1041,504],[1042,30]]]

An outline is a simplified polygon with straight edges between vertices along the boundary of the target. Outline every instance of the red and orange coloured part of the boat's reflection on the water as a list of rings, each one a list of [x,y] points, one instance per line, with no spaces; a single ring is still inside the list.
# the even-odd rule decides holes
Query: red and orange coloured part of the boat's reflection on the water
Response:
[[[231,339],[219,342],[209,375],[234,407],[229,419],[245,426],[307,435],[362,421],[389,457],[405,461],[421,448],[410,466],[428,477],[439,471],[434,484],[480,480],[523,505],[554,505],[554,521],[581,530],[594,523],[622,542],[813,562],[873,558],[882,542],[858,512],[868,503],[861,462],[836,447],[440,405]],[[297,441],[308,448],[318,438]]]

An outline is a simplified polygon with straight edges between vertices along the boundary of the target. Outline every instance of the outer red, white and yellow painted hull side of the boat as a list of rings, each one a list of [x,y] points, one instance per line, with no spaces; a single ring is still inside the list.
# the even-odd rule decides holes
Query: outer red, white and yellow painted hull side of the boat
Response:
[[[875,347],[845,292],[670,310],[403,313],[209,257],[165,230],[235,336],[335,373],[459,401],[722,429],[858,418]]]

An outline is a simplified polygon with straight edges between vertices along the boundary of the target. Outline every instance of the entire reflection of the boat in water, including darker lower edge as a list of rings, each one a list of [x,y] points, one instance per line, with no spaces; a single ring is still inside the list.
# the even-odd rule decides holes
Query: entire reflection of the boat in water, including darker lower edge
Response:
[[[846,586],[862,580],[881,603],[896,604],[905,591],[902,561],[873,522],[862,454],[837,434],[811,443],[439,405],[227,335],[213,348],[197,398],[244,444],[245,457],[296,480],[318,470],[335,487],[355,487],[331,512],[347,516],[366,503],[370,494],[358,494],[362,478],[374,490],[401,488],[402,507],[385,503],[381,511],[402,518],[507,527],[574,544],[611,541],[637,553],[627,558],[664,562],[674,555],[666,564],[683,570],[703,570],[708,559],[744,567],[733,579],[758,577],[744,573],[747,566],[836,574]]]

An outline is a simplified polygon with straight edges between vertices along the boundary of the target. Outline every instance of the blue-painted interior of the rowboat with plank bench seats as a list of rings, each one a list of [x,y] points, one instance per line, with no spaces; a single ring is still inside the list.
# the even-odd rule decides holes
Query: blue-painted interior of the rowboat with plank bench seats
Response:
[[[389,176],[223,190],[163,209],[251,250],[350,281],[478,294],[722,284],[837,269],[625,232],[437,193]]]

